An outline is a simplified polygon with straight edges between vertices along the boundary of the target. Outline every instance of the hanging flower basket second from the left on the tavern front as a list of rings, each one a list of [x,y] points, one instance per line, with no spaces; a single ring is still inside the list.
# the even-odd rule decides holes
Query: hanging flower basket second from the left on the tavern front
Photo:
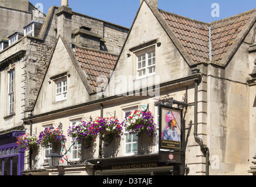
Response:
[[[62,134],[59,126],[56,129],[54,127],[46,128],[38,137],[38,144],[42,147],[52,146],[53,150],[56,150],[58,143],[61,143],[61,141],[66,141],[66,137]]]

